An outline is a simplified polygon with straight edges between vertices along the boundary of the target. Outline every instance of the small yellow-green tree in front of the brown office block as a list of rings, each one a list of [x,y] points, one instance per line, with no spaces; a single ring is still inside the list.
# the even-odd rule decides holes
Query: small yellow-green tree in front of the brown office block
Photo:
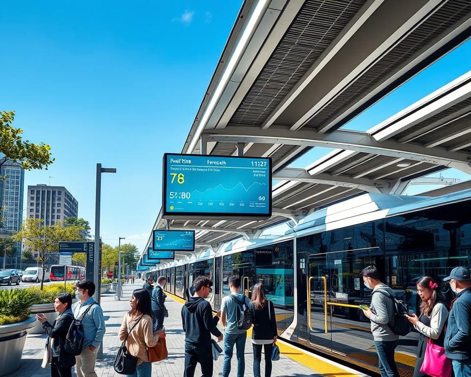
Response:
[[[41,263],[43,270],[41,290],[51,254],[59,252],[59,242],[61,241],[79,241],[81,230],[82,228],[78,225],[63,227],[60,221],[57,221],[53,226],[46,226],[42,219],[26,218],[21,224],[21,229],[13,234],[14,241],[25,242],[27,246],[39,254],[38,262]]]

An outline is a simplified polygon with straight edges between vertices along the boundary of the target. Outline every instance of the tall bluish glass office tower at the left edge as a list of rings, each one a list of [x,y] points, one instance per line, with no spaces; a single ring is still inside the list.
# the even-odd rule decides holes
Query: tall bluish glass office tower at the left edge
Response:
[[[5,162],[0,168],[0,208],[2,224],[0,234],[10,236],[20,230],[23,215],[25,169],[16,162]]]

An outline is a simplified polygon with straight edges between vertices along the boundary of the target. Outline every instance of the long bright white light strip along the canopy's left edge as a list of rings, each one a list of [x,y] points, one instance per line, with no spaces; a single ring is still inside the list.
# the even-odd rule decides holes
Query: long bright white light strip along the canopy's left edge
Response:
[[[234,53],[232,54],[231,58],[229,59],[229,62],[226,66],[226,70],[221,76],[221,79],[219,80],[219,83],[217,84],[216,89],[214,90],[211,100],[209,101],[209,104],[203,113],[203,116],[201,117],[201,120],[198,124],[198,127],[191,139],[191,142],[188,146],[188,149],[186,150],[186,153],[192,153],[193,149],[195,149],[196,144],[198,143],[198,140],[203,133],[203,130],[206,127],[206,124],[208,123],[209,116],[212,114],[212,111],[217,105],[217,101],[219,101],[219,98],[221,97],[221,94],[226,87],[227,83],[229,82],[229,79],[231,78],[231,75],[233,74],[235,70],[235,66],[237,62],[239,61],[240,56],[245,50],[245,47],[252,35],[252,33],[255,30],[255,27],[258,25],[258,21],[264,14],[265,10],[265,5],[268,0],[259,0],[257,6],[255,7],[254,12],[252,13],[252,16],[250,17],[249,22],[247,23],[247,26],[245,27],[242,36],[239,39],[239,42],[237,43],[237,46],[235,47]]]

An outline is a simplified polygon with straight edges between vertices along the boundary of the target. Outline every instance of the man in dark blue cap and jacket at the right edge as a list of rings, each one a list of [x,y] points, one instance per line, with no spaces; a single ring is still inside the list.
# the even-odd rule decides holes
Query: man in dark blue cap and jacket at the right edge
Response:
[[[456,267],[443,280],[450,282],[450,288],[456,294],[451,301],[445,332],[445,354],[451,359],[455,377],[470,377],[471,272],[464,267]]]

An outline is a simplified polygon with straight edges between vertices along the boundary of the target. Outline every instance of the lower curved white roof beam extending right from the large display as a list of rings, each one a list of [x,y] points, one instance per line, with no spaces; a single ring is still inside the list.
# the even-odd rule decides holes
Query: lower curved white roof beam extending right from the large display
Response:
[[[382,192],[383,188],[391,188],[393,185],[391,181],[387,180],[373,181],[366,178],[354,179],[344,175],[332,175],[327,173],[317,173],[311,175],[306,169],[296,169],[291,167],[277,171],[273,174],[273,179],[358,188],[368,192]]]

